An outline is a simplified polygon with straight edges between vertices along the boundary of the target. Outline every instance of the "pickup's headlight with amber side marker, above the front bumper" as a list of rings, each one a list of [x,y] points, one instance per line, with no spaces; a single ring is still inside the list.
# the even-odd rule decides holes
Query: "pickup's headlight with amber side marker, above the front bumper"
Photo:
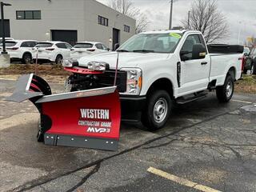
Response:
[[[126,70],[127,81],[126,81],[126,93],[138,95],[142,90],[142,70],[139,68],[122,68]]]

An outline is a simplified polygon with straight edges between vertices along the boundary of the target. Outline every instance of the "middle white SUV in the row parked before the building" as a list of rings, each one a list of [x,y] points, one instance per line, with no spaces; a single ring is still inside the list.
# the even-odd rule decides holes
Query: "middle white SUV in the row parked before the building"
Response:
[[[67,42],[38,42],[34,46],[32,55],[34,61],[38,58],[38,62],[55,62],[62,63],[63,59],[70,58],[70,50],[72,46]]]

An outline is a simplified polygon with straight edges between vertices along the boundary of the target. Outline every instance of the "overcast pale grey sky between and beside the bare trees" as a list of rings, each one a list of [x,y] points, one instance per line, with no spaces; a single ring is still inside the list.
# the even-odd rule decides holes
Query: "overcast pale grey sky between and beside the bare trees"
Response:
[[[174,0],[173,26],[180,26],[182,18],[187,18],[193,0]],[[207,1],[207,0],[206,0]],[[98,0],[107,4],[109,0]],[[169,26],[170,0],[132,0],[149,18],[147,30],[165,30]],[[247,37],[256,38],[256,0],[218,0],[219,10],[226,16],[230,26],[230,37],[226,43],[238,43],[241,30],[241,43]]]

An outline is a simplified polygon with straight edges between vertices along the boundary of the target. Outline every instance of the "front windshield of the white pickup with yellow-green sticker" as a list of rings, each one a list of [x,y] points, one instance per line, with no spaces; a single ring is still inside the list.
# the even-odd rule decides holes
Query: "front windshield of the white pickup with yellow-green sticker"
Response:
[[[136,34],[117,51],[142,53],[174,53],[182,34]]]

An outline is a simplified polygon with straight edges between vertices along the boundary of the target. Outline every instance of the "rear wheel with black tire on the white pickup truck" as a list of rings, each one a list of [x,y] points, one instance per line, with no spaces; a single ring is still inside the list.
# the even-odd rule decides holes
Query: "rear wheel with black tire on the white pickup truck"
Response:
[[[230,74],[226,76],[223,86],[217,86],[216,95],[219,102],[229,102],[234,94],[234,78]]]

